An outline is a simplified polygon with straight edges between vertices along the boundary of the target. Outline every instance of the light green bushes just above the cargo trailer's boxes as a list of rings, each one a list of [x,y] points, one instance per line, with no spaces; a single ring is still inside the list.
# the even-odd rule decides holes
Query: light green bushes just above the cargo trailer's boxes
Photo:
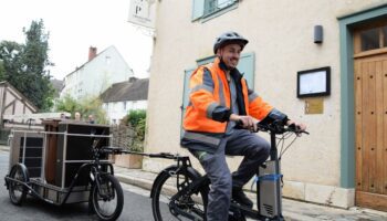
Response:
[[[107,124],[106,112],[102,108],[102,101],[98,97],[85,97],[76,101],[70,95],[56,99],[56,112],[69,112],[74,118],[75,112],[81,113],[83,120],[87,120],[88,115],[93,115],[96,124]]]

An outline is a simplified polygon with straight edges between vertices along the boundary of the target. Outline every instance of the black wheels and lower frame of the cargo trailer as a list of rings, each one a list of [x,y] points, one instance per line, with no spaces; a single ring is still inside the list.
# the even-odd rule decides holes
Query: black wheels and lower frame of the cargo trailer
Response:
[[[111,147],[100,147],[98,141],[101,139],[95,139],[95,137],[106,137],[104,135],[93,135],[92,137],[94,139],[92,141],[93,160],[82,164],[69,188],[60,188],[41,179],[30,179],[29,170],[24,164],[13,165],[9,175],[4,178],[11,202],[21,206],[27,194],[31,194],[45,202],[63,206],[70,198],[73,198],[72,202],[83,202],[83,198],[74,201],[72,193],[85,191],[88,192],[90,213],[96,213],[100,220],[116,220],[124,206],[123,189],[114,177],[112,164],[105,160],[101,161],[101,159],[106,159],[106,155],[118,154],[119,150]],[[83,179],[82,176],[87,173],[90,175],[88,182],[85,186],[75,187]]]

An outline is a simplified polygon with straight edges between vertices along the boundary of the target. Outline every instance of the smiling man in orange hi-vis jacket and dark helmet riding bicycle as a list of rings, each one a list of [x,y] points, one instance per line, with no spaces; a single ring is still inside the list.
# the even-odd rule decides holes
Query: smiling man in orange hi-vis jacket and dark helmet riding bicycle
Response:
[[[213,45],[213,63],[199,66],[190,77],[181,146],[199,159],[211,181],[208,221],[228,220],[231,197],[243,207],[253,206],[242,187],[268,159],[270,149],[266,140],[250,131],[257,129],[258,120],[281,120],[305,129],[305,125],[290,120],[248,87],[237,70],[248,42],[236,32],[221,34]],[[226,155],[244,156],[232,175]]]

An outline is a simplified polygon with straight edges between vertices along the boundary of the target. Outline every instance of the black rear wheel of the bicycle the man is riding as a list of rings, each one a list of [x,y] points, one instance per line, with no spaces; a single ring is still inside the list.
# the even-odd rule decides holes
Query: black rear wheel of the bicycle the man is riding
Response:
[[[188,171],[182,172],[178,170],[177,173],[172,172],[172,170],[163,171],[153,189],[151,208],[155,221],[206,220],[208,186],[201,187],[195,193],[181,196],[171,202],[172,196],[197,178],[197,176]],[[195,219],[181,215],[181,212],[177,211],[172,204],[178,210],[195,217]]]

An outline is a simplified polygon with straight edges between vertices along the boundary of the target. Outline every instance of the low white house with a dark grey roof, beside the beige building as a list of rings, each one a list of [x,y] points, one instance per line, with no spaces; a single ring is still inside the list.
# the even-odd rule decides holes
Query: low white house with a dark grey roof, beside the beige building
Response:
[[[146,109],[149,78],[130,77],[113,84],[102,95],[103,108],[111,124],[118,124],[132,109]]]

